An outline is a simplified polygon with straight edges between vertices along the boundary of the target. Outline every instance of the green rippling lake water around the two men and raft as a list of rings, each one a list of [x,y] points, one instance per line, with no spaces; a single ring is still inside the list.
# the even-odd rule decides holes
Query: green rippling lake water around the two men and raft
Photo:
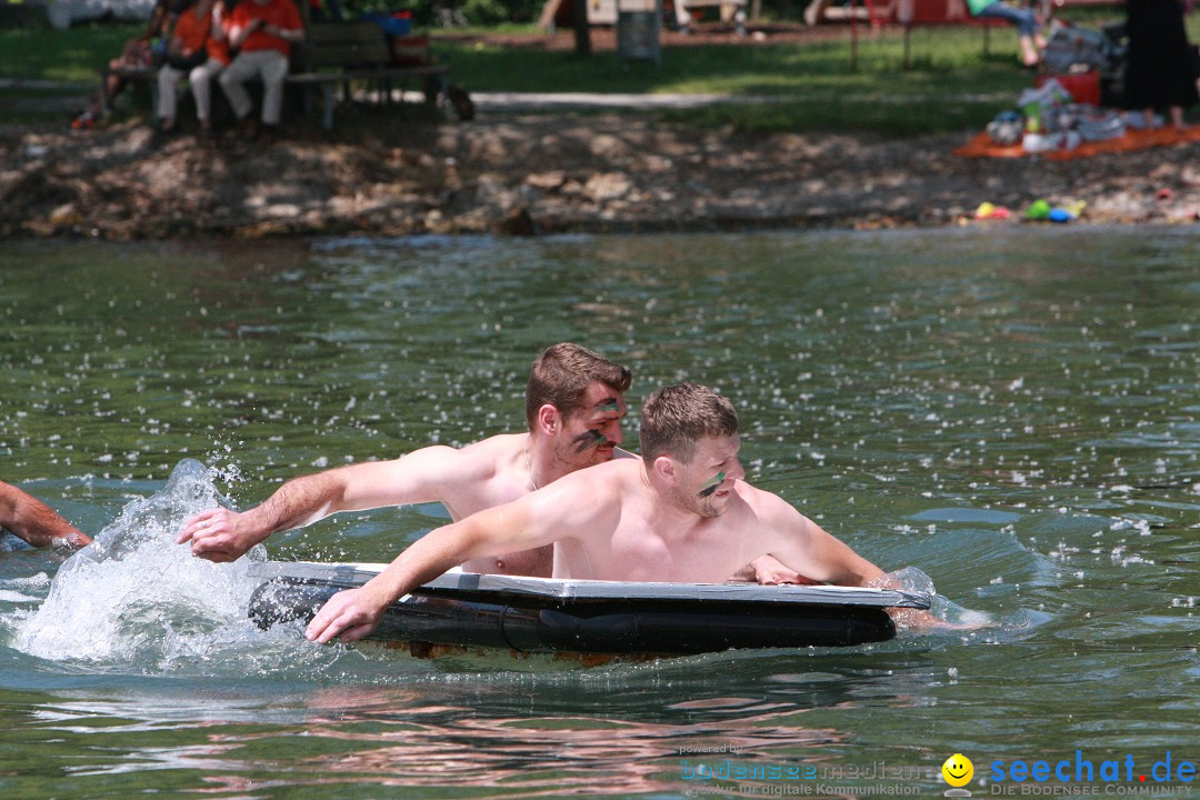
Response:
[[[0,479],[110,557],[0,552],[0,796],[935,796],[954,753],[977,798],[1200,793],[1198,311],[1188,229],[6,242]],[[748,480],[991,622],[413,660],[260,632],[245,565],[172,543],[221,497],[518,429],[563,339],[634,368],[628,445],[654,387],[718,387]],[[445,519],[265,555],[390,560]]]

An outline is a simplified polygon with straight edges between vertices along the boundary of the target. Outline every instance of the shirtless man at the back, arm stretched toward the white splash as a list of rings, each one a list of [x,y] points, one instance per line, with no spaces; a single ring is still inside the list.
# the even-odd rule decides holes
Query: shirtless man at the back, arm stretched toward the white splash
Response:
[[[414,503],[442,503],[452,519],[511,503],[564,475],[613,458],[634,458],[617,447],[632,373],[598,353],[564,342],[534,362],[526,386],[528,433],[500,434],[455,450],[433,446],[386,462],[354,464],[284,483],[264,504],[238,513],[214,509],[192,517],[179,542],[210,561],[233,561],[280,530],[340,511]],[[462,567],[550,577],[551,543],[472,558]],[[763,583],[802,581],[773,559],[745,567],[740,578]],[[728,578],[732,571],[722,576]]]

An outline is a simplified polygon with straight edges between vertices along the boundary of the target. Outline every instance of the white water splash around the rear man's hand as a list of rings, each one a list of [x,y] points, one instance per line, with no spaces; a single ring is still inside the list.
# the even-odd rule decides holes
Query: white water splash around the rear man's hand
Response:
[[[164,672],[260,640],[245,609],[254,589],[248,564],[265,560],[265,551],[211,564],[175,543],[192,515],[232,505],[217,477],[185,459],[161,492],[130,503],[59,569],[46,601],[17,622],[13,646],[53,661]]]

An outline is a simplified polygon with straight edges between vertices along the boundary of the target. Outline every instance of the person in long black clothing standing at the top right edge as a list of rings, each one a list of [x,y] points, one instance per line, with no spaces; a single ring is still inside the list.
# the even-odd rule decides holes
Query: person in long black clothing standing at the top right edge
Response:
[[[1178,0],[1129,0],[1126,5],[1124,107],[1141,109],[1146,128],[1154,110],[1169,109],[1171,125],[1183,127],[1183,109],[1200,103],[1195,67]]]

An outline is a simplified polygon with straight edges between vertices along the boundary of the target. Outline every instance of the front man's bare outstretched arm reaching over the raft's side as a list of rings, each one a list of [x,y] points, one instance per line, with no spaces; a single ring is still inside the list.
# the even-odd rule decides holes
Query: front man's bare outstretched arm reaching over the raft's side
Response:
[[[426,534],[360,588],[330,597],[308,624],[305,636],[320,644],[335,638],[361,639],[379,622],[388,606],[456,564],[544,547],[572,531],[599,529],[594,523],[602,516],[602,500],[589,497],[581,501],[586,495],[562,489],[559,483],[565,480]]]

